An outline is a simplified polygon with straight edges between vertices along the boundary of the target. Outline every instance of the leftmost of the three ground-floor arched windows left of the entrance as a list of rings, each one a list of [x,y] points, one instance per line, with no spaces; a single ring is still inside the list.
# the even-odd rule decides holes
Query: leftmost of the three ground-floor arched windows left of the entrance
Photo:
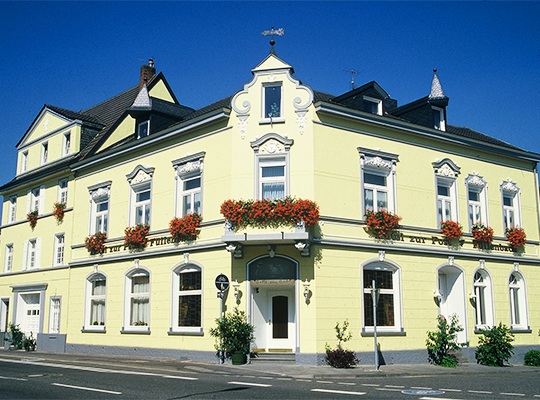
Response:
[[[86,278],[86,309],[84,330],[105,331],[107,303],[107,277],[93,273]]]

